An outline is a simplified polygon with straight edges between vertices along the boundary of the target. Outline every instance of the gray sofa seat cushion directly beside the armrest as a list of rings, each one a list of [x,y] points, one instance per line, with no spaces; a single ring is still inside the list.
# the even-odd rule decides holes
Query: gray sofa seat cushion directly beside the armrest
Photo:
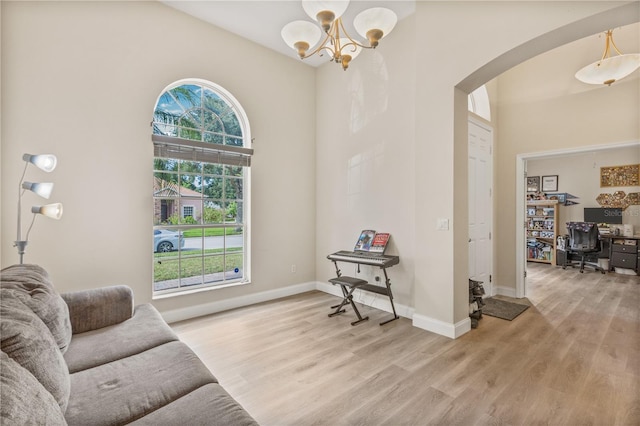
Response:
[[[64,354],[69,372],[75,373],[155,346],[178,340],[178,336],[149,304],[135,308],[131,319],[109,327],[74,334]],[[96,348],[100,348],[99,351]]]

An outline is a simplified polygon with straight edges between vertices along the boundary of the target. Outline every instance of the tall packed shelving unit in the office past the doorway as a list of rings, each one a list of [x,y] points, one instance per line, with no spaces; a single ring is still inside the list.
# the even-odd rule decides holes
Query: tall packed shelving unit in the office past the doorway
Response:
[[[527,261],[556,264],[558,201],[527,201]]]

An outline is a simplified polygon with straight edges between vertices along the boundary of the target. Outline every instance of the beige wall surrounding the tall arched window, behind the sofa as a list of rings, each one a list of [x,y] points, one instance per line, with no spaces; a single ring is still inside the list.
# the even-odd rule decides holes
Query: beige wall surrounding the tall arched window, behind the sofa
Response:
[[[22,154],[52,152],[58,168],[27,177],[55,182],[64,216],[38,218],[25,262],[44,266],[61,291],[128,284],[136,302],[150,301],[149,123],[162,90],[194,77],[231,92],[250,120],[253,282],[153,303],[166,312],[314,280],[313,68],[157,2],[1,7],[2,266],[18,260]]]

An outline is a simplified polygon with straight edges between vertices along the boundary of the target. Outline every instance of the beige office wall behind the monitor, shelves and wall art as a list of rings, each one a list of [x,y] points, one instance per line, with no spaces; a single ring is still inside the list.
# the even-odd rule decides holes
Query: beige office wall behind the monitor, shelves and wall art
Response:
[[[601,167],[627,164],[640,164],[640,145],[528,160],[527,174],[558,175],[558,192],[568,192],[577,197],[573,201],[578,204],[561,206],[559,209],[558,232],[566,234],[566,222],[584,220],[585,207],[601,207],[596,201],[599,194],[640,192],[640,186],[600,187]],[[633,225],[640,234],[640,205],[627,207],[622,223]]]

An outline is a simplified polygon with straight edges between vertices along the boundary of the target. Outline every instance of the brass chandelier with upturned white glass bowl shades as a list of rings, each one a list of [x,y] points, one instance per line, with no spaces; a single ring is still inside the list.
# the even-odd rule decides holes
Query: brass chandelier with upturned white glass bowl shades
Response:
[[[380,40],[389,34],[396,25],[396,14],[384,7],[373,7],[360,12],[353,20],[353,26],[362,37],[369,41],[368,45],[353,39],[344,29],[342,14],[347,10],[349,0],[314,1],[302,0],[302,7],[307,15],[317,21],[322,28],[309,21],[293,21],[282,28],[285,43],[298,52],[300,59],[306,59],[319,53],[328,54],[331,61],[349,68],[349,62],[362,49],[375,49]],[[322,42],[315,46],[324,32]]]

